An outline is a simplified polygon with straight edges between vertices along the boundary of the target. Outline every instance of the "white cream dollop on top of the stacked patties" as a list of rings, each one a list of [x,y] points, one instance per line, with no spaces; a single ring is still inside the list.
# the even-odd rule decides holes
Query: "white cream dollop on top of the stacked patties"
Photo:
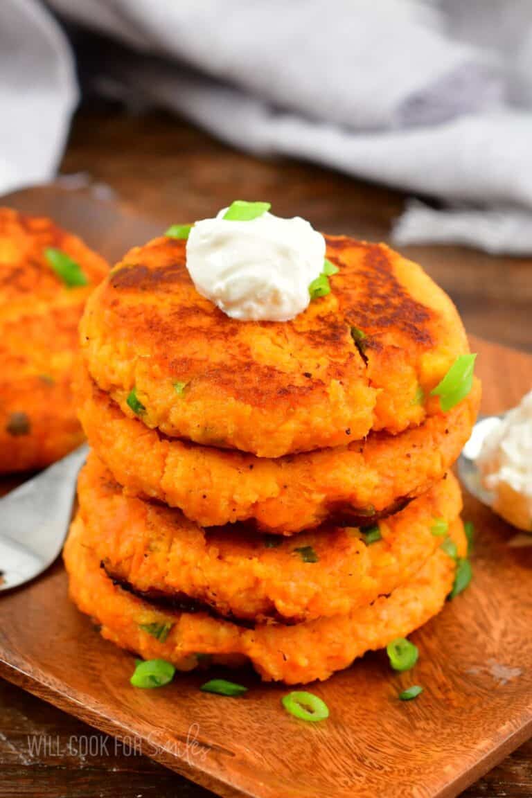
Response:
[[[296,216],[269,212],[250,221],[196,222],[187,269],[196,290],[242,321],[287,322],[309,306],[309,284],[323,269],[325,239]]]

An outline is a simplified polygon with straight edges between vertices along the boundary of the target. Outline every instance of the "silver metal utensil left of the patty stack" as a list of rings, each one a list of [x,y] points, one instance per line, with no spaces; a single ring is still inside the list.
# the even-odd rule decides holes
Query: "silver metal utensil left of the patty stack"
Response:
[[[88,452],[80,446],[0,499],[0,591],[35,579],[57,558]]]

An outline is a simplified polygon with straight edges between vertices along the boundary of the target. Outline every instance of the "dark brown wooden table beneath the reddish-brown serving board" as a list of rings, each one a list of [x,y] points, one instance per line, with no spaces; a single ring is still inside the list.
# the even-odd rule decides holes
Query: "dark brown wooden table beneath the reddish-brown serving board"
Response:
[[[137,211],[160,219],[163,229],[165,223],[211,215],[232,199],[267,199],[278,215],[299,214],[325,231],[387,240],[404,206],[399,192],[292,160],[246,156],[164,114],[85,110],[74,124],[61,171],[86,172]],[[532,350],[532,259],[495,258],[461,247],[409,247],[408,255],[451,294],[471,333]],[[0,681],[0,798],[15,795],[210,793]],[[532,741],[463,794],[498,796],[532,796]]]

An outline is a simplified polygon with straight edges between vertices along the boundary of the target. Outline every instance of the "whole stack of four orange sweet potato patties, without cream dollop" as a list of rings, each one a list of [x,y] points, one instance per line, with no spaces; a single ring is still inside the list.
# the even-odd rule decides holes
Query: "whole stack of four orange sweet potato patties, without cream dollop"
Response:
[[[480,395],[459,315],[388,247],[325,241],[331,290],[290,322],[229,318],[167,236],[89,299],[65,563],[77,606],[144,659],[325,679],[453,590],[450,469]]]

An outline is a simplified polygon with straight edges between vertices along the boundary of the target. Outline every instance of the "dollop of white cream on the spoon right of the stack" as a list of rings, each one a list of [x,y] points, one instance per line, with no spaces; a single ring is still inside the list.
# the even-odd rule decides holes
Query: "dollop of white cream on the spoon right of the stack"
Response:
[[[532,532],[532,391],[489,433],[477,465],[494,510]]]

